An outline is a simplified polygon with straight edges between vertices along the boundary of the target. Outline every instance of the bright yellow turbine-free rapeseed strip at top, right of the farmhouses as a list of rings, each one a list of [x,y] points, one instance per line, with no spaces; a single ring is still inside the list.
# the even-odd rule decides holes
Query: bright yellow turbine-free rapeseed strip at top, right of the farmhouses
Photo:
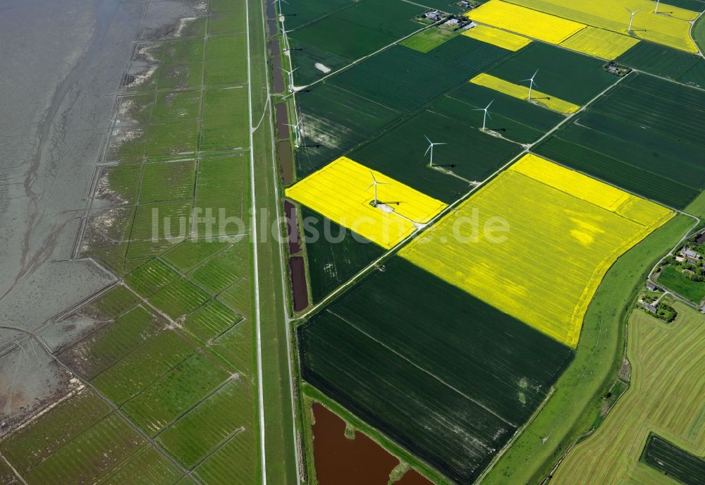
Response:
[[[475,22],[492,25],[501,29],[534,39],[559,44],[578,30],[584,29],[582,23],[566,20],[547,13],[510,4],[502,0],[490,0],[486,4],[465,14]]]

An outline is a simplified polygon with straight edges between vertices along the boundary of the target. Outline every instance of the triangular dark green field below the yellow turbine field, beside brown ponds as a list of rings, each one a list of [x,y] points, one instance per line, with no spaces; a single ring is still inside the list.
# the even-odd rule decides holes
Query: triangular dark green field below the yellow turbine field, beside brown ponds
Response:
[[[322,300],[355,276],[364,266],[384,254],[384,250],[378,245],[364,240],[362,236],[354,235],[352,231],[338,226],[308,207],[301,206],[300,210],[304,221],[303,231],[314,303]],[[326,238],[326,231],[332,239]]]

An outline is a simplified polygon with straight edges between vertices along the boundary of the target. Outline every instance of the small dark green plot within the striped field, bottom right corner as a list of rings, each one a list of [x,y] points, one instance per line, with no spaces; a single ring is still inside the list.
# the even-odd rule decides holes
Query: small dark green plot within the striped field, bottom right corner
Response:
[[[655,434],[651,434],[646,441],[642,461],[682,484],[705,484],[705,460],[668,443]]]

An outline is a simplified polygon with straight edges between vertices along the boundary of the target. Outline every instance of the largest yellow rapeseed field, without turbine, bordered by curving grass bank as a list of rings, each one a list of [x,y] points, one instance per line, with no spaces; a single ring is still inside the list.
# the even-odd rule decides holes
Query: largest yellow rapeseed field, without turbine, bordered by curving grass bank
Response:
[[[672,216],[653,202],[527,155],[400,254],[575,348],[606,271]],[[502,223],[508,231],[485,230]]]

